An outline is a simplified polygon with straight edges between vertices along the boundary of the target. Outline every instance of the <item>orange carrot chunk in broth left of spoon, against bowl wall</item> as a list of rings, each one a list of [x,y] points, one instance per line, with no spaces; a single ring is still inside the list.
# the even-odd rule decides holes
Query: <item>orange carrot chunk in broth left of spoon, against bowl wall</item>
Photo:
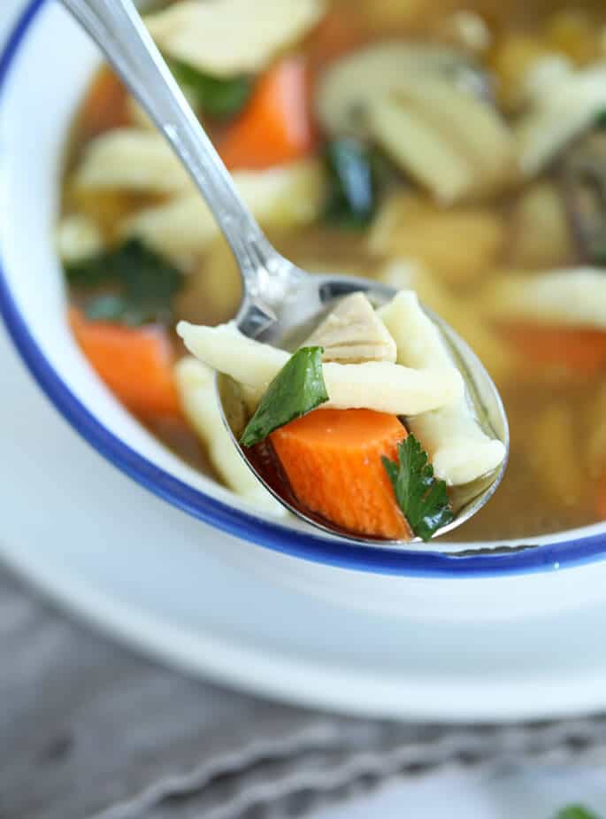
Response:
[[[97,374],[130,410],[148,418],[180,415],[173,345],[164,328],[88,321],[75,308],[69,322]]]

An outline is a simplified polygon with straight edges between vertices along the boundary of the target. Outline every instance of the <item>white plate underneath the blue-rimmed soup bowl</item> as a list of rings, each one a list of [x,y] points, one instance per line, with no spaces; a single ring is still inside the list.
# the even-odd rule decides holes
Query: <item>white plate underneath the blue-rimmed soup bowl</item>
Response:
[[[0,360],[4,558],[116,637],[219,682],[352,714],[506,720],[606,706],[606,606],[413,622],[249,575],[234,554],[265,550],[111,467],[42,397],[4,331]]]

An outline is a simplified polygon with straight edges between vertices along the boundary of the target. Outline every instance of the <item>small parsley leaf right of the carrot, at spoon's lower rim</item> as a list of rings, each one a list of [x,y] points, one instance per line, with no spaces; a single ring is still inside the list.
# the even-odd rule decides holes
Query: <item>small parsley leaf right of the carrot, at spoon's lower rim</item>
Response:
[[[433,477],[433,467],[416,437],[409,435],[398,444],[398,461],[385,456],[382,461],[398,506],[415,535],[427,541],[453,520],[446,483]]]

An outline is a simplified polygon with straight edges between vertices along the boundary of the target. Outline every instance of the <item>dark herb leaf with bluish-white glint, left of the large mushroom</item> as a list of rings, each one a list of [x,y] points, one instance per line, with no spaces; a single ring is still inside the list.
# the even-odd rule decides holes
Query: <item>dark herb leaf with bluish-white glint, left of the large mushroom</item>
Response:
[[[364,228],[372,220],[380,189],[389,175],[387,160],[353,137],[326,145],[326,221],[341,228]]]

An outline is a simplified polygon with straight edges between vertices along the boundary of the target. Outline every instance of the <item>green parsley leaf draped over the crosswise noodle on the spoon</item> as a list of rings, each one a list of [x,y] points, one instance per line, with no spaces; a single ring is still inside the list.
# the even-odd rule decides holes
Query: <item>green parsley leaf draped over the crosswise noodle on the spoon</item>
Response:
[[[242,446],[254,446],[274,429],[301,418],[328,400],[322,375],[322,347],[295,352],[267,388],[257,412],[242,433]]]

